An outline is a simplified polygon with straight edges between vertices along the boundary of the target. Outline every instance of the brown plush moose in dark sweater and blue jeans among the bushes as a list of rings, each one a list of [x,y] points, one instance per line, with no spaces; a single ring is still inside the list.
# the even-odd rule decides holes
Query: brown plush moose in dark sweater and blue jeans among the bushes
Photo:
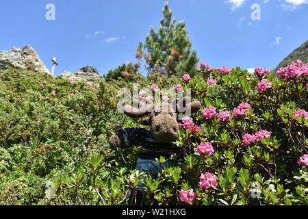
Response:
[[[123,111],[131,118],[143,117],[141,124],[150,125],[151,128],[118,129],[109,142],[111,146],[121,148],[141,145],[136,170],[151,171],[151,175],[155,177],[159,171],[159,164],[155,158],[162,156],[165,159],[170,159],[172,154],[179,153],[179,148],[175,144],[179,133],[177,114],[197,112],[201,108],[201,103],[199,101],[190,102],[188,97],[181,100],[175,99],[171,104],[166,102],[153,104],[149,99],[147,102],[133,100],[133,106],[125,105]],[[167,165],[168,162],[165,162],[161,167]],[[143,198],[141,186],[137,192],[137,199],[140,198],[141,200]]]

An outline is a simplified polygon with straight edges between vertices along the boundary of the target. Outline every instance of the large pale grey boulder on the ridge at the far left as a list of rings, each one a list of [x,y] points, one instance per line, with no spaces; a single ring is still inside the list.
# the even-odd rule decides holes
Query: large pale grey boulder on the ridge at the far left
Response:
[[[9,51],[0,51],[0,67],[6,68],[7,66],[51,74],[30,45],[21,49],[12,47]]]

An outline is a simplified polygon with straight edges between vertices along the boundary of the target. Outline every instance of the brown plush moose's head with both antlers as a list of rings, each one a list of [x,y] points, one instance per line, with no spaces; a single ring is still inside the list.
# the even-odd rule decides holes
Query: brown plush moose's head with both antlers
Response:
[[[124,113],[131,118],[142,118],[142,125],[150,125],[150,131],[154,140],[161,143],[174,142],[178,138],[179,126],[177,114],[197,112],[201,108],[199,101],[190,102],[185,96],[183,99],[175,99],[172,103],[157,103],[146,99],[147,103],[134,100],[133,106],[125,105]]]

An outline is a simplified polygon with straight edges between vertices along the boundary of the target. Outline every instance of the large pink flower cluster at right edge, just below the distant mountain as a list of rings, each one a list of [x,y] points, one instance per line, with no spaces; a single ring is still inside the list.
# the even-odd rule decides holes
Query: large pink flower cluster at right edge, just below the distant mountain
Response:
[[[301,77],[308,75],[308,63],[303,64],[302,61],[297,60],[285,68],[279,68],[277,70],[277,75],[284,77],[285,80],[290,79],[290,77]]]

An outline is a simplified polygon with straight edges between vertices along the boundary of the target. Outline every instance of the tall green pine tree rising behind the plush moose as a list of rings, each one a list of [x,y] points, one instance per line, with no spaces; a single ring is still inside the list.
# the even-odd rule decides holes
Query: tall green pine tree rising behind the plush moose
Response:
[[[145,43],[139,43],[136,57],[141,60],[147,73],[162,75],[194,75],[198,66],[196,51],[188,38],[184,21],[176,24],[172,19],[169,3],[163,8],[164,17],[160,21],[159,31],[152,26],[146,35]]]

